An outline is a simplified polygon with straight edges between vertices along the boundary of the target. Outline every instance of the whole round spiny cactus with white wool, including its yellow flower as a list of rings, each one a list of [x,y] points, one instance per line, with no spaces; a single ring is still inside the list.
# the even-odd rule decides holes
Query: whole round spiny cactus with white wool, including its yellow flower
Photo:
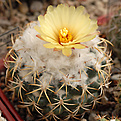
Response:
[[[48,23],[46,27],[47,21],[41,24],[44,20],[50,22],[52,17],[47,17],[58,10],[65,14],[71,11],[69,15],[75,13],[76,16],[71,14],[71,17],[77,17],[73,22],[73,18],[68,19],[73,25],[70,32],[67,26],[60,28],[59,43],[52,40],[55,37],[51,36],[54,25]],[[82,23],[75,23],[76,19],[79,22],[80,16],[84,19]],[[50,6],[45,18],[42,17],[39,16],[40,23],[31,22],[15,42],[12,40],[13,46],[4,60],[6,80],[10,90],[20,98],[19,107],[27,108],[30,114],[37,111],[42,120],[78,120],[78,114],[94,108],[103,95],[103,88],[110,84],[112,63],[111,53],[107,52],[107,43],[110,42],[98,36],[97,23],[85,14],[82,6],[58,5],[55,9]],[[79,31],[81,28],[83,31]],[[77,31],[80,32],[78,36],[75,35]]]

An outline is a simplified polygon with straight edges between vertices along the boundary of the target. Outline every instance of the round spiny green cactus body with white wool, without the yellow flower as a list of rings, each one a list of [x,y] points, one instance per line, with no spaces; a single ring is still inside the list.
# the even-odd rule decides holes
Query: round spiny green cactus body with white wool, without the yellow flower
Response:
[[[94,107],[103,87],[108,86],[111,59],[107,43],[97,35],[84,42],[87,48],[72,49],[67,57],[43,47],[46,42],[36,37],[36,25],[39,23],[27,26],[5,58],[20,107],[29,113],[36,110],[43,120],[77,118]]]

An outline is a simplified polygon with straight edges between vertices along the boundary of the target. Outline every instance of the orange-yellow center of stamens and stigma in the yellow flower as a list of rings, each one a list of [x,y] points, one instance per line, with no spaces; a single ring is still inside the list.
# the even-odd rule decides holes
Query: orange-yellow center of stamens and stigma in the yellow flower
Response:
[[[59,42],[61,43],[68,43],[72,41],[72,35],[67,28],[63,28],[59,32]]]

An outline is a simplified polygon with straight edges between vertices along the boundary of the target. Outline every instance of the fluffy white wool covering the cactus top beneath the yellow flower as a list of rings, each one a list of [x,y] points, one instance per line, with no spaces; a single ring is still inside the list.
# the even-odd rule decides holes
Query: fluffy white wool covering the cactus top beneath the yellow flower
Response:
[[[32,74],[36,71],[42,72],[45,70],[44,73],[49,73],[44,74],[46,75],[46,79],[50,78],[50,75],[52,75],[54,80],[61,80],[68,75],[68,77],[73,76],[70,82],[71,80],[81,80],[78,82],[73,81],[72,84],[74,86],[86,83],[88,77],[84,72],[82,72],[80,77],[79,71],[86,71],[87,68],[85,68],[85,66],[94,66],[97,60],[100,60],[104,56],[103,53],[92,48],[97,47],[97,43],[100,41],[98,36],[84,43],[89,48],[75,49],[72,55],[67,57],[64,56],[61,51],[53,51],[53,49],[43,47],[43,44],[46,42],[36,37],[38,32],[34,29],[35,25],[39,26],[38,22],[31,23],[23,32],[23,35],[16,39],[13,45],[14,50],[21,56],[22,63],[32,67]],[[92,49],[92,51],[90,51],[90,49]],[[97,67],[100,69],[101,65],[98,64]],[[29,71],[25,72],[25,70],[19,71],[21,76],[29,73]],[[24,79],[30,82],[32,78],[26,77]],[[92,80],[96,79],[97,78],[93,78]],[[57,83],[57,81],[55,82]]]

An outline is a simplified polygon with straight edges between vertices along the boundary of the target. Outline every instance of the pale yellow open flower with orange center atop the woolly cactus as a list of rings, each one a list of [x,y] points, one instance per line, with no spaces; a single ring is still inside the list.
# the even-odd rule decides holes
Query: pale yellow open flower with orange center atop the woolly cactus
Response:
[[[90,41],[97,34],[97,22],[89,18],[83,6],[49,6],[47,13],[44,16],[40,15],[38,20],[40,27],[35,26],[35,30],[40,35],[37,37],[49,42],[44,44],[44,47],[62,50],[66,56],[70,56],[74,48],[87,47],[81,42]]]

